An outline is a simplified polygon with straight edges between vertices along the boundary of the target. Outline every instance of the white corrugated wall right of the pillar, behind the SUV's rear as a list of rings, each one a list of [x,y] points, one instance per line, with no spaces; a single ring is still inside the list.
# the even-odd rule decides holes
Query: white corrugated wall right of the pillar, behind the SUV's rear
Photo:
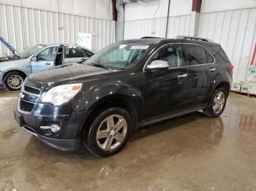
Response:
[[[256,1],[204,0],[197,36],[221,44],[235,66],[233,82],[245,80],[256,43]]]

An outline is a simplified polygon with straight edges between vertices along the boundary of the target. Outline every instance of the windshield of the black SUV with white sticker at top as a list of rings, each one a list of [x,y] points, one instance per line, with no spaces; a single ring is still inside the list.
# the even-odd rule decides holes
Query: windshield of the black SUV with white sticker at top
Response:
[[[135,66],[152,44],[139,42],[116,43],[97,52],[85,63],[106,69],[124,70]]]

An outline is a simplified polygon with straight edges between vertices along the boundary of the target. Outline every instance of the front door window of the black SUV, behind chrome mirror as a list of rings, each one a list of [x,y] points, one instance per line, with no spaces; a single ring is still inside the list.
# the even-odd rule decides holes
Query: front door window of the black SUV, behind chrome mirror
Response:
[[[157,61],[157,60],[167,61],[167,63],[169,64],[169,68],[184,66],[181,45],[178,45],[178,44],[165,45],[160,50],[158,50],[151,58],[151,62]]]

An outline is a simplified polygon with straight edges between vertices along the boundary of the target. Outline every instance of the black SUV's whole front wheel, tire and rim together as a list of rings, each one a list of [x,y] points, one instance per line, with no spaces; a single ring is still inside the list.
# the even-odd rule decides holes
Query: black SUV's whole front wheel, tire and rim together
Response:
[[[93,155],[108,157],[119,152],[129,139],[131,120],[124,109],[99,112],[86,130],[83,144]]]

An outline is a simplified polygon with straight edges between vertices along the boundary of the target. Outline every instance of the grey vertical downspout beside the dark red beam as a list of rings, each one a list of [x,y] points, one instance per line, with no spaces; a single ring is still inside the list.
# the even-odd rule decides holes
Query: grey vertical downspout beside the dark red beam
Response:
[[[116,22],[116,42],[124,39],[124,2],[116,0],[117,22]]]

